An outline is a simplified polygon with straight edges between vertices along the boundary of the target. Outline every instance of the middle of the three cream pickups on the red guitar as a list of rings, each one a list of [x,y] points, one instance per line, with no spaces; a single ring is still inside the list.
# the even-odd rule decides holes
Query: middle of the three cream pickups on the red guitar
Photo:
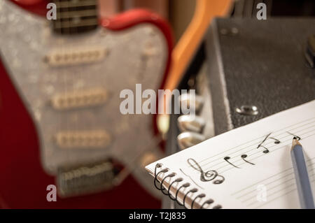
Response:
[[[107,100],[107,92],[102,88],[86,89],[76,92],[56,94],[52,97],[52,108],[56,110],[69,110],[73,108],[86,108],[100,106]]]

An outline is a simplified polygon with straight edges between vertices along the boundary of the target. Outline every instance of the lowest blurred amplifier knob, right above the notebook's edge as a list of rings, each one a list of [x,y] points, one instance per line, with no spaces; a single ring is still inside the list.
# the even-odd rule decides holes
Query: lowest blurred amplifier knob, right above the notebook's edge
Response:
[[[205,140],[206,137],[204,137],[204,135],[197,134],[192,131],[185,131],[177,136],[177,143],[179,143],[179,148],[181,148],[181,150],[190,148],[191,146],[201,143]]]

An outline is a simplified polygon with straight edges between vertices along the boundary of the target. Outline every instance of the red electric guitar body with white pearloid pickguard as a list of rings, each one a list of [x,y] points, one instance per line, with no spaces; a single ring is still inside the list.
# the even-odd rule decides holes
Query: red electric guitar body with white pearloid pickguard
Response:
[[[167,24],[137,10],[84,34],[57,35],[26,3],[0,2],[0,206],[159,208],[151,176],[136,165],[152,147],[153,117],[120,113],[120,92],[159,89],[172,49]],[[106,189],[73,177],[107,159],[132,175]],[[57,185],[57,201],[46,199],[48,185]]]

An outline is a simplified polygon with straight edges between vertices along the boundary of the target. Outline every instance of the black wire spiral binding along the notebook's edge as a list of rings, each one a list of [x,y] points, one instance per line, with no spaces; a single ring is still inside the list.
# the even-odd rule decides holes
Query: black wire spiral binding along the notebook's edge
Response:
[[[186,197],[188,194],[194,194],[194,193],[197,193],[198,192],[198,189],[197,188],[193,188],[193,189],[190,189],[183,197],[183,203],[180,203],[179,202],[179,199],[178,199],[178,195],[179,195],[179,191],[182,189],[182,188],[185,188],[185,187],[189,187],[190,186],[190,183],[189,182],[186,182],[184,183],[183,185],[181,185],[181,187],[179,187],[179,189],[177,189],[176,191],[176,194],[175,194],[175,197],[172,197],[172,195],[170,194],[170,190],[172,188],[172,185],[175,183],[175,182],[182,182],[183,181],[183,178],[176,178],[175,180],[173,180],[172,182],[170,182],[169,184],[169,188],[168,189],[165,189],[163,188],[163,183],[165,182],[165,180],[167,178],[174,178],[174,176],[176,175],[176,173],[169,173],[168,175],[166,175],[162,181],[158,180],[158,175],[160,175],[161,173],[167,173],[169,172],[169,168],[162,168],[163,164],[156,164],[155,165],[155,170],[154,170],[154,186],[156,189],[160,190],[162,192],[162,194],[165,194],[166,196],[169,196],[169,199],[172,199],[172,201],[176,201],[176,203],[178,203],[180,206],[183,206],[184,208],[188,209],[186,207],[186,204],[185,204],[185,201],[186,201]],[[160,171],[158,171],[157,173],[157,170],[158,168],[160,168]],[[157,185],[157,182],[160,182],[160,185]],[[167,192],[165,192],[165,190],[167,190]],[[193,201],[191,202],[191,205],[190,205],[190,208],[191,209],[194,209],[194,203],[197,199],[202,199],[206,196],[206,194],[198,194],[195,199],[193,199]],[[208,199],[207,201],[204,201],[204,203],[202,203],[202,206],[200,206],[200,209],[204,209],[204,206],[206,205],[211,205],[212,203],[214,203],[214,200],[213,199]],[[222,206],[221,205],[216,205],[213,207],[213,209],[221,209]]]

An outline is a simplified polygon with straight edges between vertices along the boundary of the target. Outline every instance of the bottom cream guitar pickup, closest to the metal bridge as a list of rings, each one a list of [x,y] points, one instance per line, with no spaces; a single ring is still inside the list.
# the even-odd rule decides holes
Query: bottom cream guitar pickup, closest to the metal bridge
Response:
[[[55,136],[57,147],[61,149],[106,148],[111,137],[106,131],[60,131]]]

